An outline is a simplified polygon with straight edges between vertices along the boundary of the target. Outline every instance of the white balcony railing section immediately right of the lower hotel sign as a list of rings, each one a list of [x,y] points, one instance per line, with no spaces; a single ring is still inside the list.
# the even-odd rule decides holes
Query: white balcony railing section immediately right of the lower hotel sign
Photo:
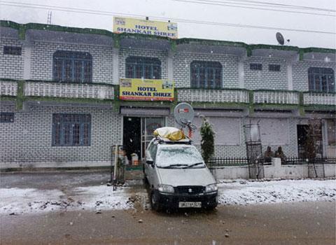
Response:
[[[249,102],[247,90],[202,90],[179,88],[177,90],[177,99],[179,102]]]

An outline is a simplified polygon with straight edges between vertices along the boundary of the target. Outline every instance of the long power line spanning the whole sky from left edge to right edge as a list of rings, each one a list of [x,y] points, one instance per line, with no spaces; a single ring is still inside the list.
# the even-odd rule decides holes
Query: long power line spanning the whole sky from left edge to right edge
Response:
[[[12,1],[1,1],[1,5],[6,6],[17,6],[17,7],[24,7],[24,8],[41,8],[41,9],[52,9],[52,10],[59,10],[64,12],[71,12],[71,13],[87,13],[93,15],[109,15],[109,16],[127,16],[127,17],[135,17],[135,18],[144,18],[144,15],[137,15],[137,14],[129,14],[129,13],[118,13],[118,12],[110,12],[110,11],[101,11],[101,10],[89,10],[84,8],[70,8],[70,7],[59,7],[59,6],[50,6],[50,5],[43,5],[43,4],[35,4],[35,3],[16,3]],[[148,15],[146,15],[148,16]],[[259,25],[244,25],[244,24],[232,24],[232,23],[225,23],[225,22],[209,22],[209,21],[202,21],[202,20],[188,20],[188,19],[181,19],[181,18],[162,18],[158,16],[148,16],[149,18],[153,18],[156,20],[172,20],[176,22],[186,22],[198,25],[217,25],[217,26],[227,26],[227,27],[241,27],[241,28],[254,28],[254,29],[272,29],[277,31],[300,31],[300,32],[312,32],[312,33],[320,33],[320,34],[336,34],[332,31],[318,31],[318,30],[307,30],[307,29],[291,29],[291,28],[283,28],[283,27],[266,27],[266,26],[259,26]]]

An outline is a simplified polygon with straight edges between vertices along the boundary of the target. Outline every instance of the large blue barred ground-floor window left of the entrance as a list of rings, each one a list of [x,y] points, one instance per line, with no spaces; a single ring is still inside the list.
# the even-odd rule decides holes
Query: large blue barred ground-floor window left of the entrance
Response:
[[[90,114],[52,114],[52,146],[90,146]]]

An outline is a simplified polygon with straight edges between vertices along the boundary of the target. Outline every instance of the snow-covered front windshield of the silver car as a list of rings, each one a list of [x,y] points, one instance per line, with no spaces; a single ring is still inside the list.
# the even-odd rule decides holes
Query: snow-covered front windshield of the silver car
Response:
[[[200,163],[200,164],[197,164]],[[195,146],[164,146],[156,156],[158,167],[204,167],[204,161]]]

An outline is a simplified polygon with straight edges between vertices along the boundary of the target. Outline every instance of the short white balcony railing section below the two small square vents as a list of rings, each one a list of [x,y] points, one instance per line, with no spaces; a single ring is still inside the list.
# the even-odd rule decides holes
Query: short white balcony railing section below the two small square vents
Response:
[[[255,104],[299,104],[299,93],[295,91],[257,90],[253,92]]]

